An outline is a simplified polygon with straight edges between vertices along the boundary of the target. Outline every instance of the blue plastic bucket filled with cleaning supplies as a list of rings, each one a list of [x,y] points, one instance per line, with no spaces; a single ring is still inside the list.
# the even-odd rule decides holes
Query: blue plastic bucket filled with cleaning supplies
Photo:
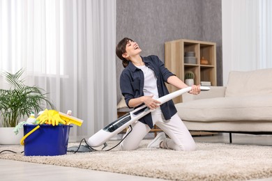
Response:
[[[37,125],[24,125],[24,135]],[[25,156],[66,155],[70,125],[40,125],[40,128],[24,139]]]

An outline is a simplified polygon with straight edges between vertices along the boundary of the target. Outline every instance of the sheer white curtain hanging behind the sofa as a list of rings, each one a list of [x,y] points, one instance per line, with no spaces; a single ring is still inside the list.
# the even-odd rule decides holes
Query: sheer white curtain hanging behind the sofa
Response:
[[[222,0],[223,82],[231,70],[272,68],[272,2]]]

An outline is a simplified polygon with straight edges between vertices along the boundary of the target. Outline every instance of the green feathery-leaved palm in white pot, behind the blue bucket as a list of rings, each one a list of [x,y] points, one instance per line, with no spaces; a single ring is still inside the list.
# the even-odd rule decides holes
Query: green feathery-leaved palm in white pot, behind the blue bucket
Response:
[[[24,79],[21,79],[23,72],[24,70],[20,69],[15,74],[2,73],[10,88],[0,88],[0,121],[2,123],[0,134],[5,134],[0,135],[0,144],[9,144],[6,143],[6,139],[8,139],[6,134],[11,132],[15,135],[13,128],[20,120],[29,117],[31,112],[38,113],[38,111],[44,110],[47,105],[54,108],[52,102],[46,97],[47,93],[44,93],[42,88],[24,84]],[[18,143],[20,143],[20,139]],[[15,144],[13,140],[10,141],[10,144]]]

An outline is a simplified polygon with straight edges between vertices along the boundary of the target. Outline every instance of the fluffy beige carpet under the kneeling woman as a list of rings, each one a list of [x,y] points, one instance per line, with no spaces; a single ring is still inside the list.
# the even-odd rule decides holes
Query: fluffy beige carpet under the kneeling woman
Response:
[[[109,143],[109,148],[116,141]],[[3,152],[0,159],[70,166],[166,180],[249,180],[272,177],[272,148],[264,145],[197,143],[194,152],[149,150],[142,141],[135,151],[70,153],[56,157],[26,157]],[[78,145],[70,143],[71,145]],[[20,152],[23,146],[0,147]]]

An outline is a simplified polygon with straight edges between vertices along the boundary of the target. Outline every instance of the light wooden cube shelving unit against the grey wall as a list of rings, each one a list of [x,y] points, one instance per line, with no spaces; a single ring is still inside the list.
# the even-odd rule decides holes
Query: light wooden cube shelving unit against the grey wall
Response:
[[[184,63],[185,52],[195,52],[197,62],[195,64]],[[208,64],[202,65],[201,58],[208,60]],[[194,72],[195,84],[201,81],[211,81],[211,86],[216,86],[216,43],[197,40],[173,40],[165,42],[165,67],[184,81],[184,74]],[[174,86],[167,85],[169,92],[177,91]],[[174,103],[182,102],[181,96],[174,99]]]

